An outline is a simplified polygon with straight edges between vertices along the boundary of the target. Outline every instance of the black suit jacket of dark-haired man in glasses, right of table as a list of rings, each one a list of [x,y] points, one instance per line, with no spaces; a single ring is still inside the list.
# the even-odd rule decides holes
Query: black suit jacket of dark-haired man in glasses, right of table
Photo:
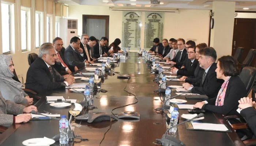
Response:
[[[193,76],[196,66],[198,65],[198,61],[195,59],[194,62],[191,64],[191,60],[187,59],[185,62],[185,68],[179,69],[177,74],[182,76]]]

